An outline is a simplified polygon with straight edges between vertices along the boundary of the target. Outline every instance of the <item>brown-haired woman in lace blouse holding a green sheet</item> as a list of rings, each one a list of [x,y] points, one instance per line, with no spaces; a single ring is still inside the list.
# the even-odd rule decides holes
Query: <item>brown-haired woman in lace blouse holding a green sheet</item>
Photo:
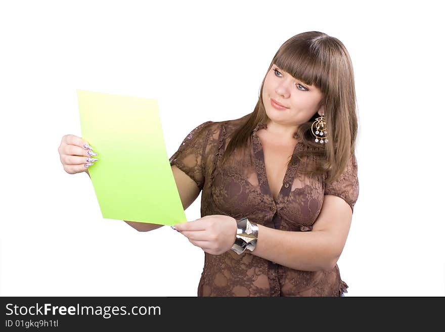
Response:
[[[280,47],[252,113],[187,135],[170,165],[184,209],[202,190],[202,218],[173,228],[205,252],[198,296],[347,292],[336,262],[359,194],[357,126],[349,55],[338,39],[311,31]],[[62,139],[68,173],[94,163],[84,164],[84,144]],[[77,152],[83,159],[69,159]]]

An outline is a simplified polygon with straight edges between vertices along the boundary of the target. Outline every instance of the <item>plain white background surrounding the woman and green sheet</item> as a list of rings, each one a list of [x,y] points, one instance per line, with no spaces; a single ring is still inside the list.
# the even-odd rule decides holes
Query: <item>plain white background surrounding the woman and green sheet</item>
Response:
[[[436,4],[2,2],[0,294],[196,296],[200,248],[168,226],[102,218],[87,174],[63,170],[61,138],[80,136],[76,89],[157,98],[171,156],[198,124],[252,112],[280,45],[316,30],[345,44],[357,89],[360,194],[338,261],[346,296],[444,296]]]

